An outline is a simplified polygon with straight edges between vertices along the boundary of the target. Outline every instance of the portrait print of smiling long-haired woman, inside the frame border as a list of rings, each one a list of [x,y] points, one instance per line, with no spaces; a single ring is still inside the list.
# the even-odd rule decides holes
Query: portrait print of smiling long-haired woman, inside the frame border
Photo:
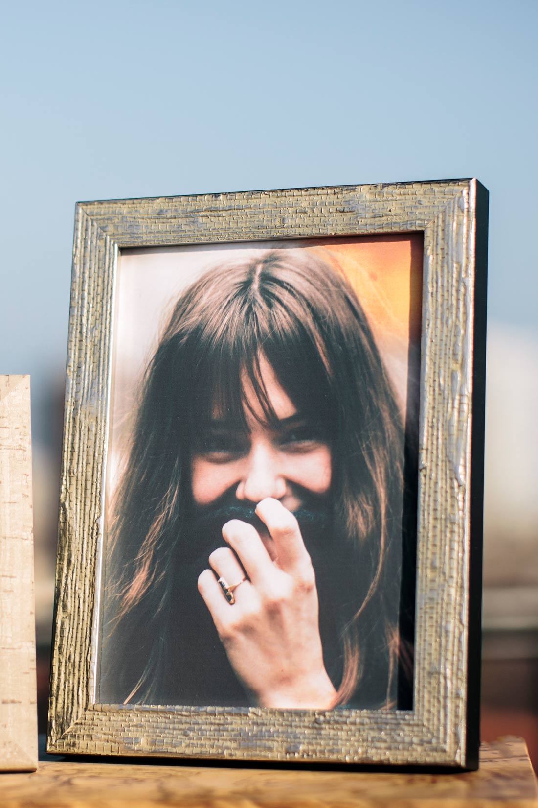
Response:
[[[123,250],[98,701],[412,709],[423,234]]]

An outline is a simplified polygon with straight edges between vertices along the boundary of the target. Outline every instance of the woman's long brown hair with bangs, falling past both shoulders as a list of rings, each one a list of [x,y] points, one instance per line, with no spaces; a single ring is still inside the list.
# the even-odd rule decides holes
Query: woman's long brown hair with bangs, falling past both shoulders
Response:
[[[118,700],[162,703],[193,436],[215,406],[244,419],[245,375],[274,417],[261,355],[297,409],[326,426],[332,447],[330,554],[345,566],[334,595],[337,703],[394,705],[399,693],[398,706],[409,706],[398,689],[412,651],[415,574],[402,416],[355,292],[301,249],[215,267],[173,309],[145,373],[115,495],[102,678],[114,681]]]

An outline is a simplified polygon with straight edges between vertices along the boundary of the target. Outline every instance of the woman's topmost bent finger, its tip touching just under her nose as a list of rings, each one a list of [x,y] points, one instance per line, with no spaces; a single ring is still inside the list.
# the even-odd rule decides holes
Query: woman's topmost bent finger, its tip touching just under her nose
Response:
[[[256,515],[265,524],[277,547],[278,566],[293,572],[310,566],[311,558],[302,541],[301,530],[293,513],[277,499],[262,499],[256,506]]]

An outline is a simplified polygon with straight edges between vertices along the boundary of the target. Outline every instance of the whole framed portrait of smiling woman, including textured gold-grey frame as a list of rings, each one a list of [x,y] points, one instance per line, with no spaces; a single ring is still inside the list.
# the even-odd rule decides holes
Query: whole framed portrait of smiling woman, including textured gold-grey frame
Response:
[[[476,767],[486,234],[477,180],[77,205],[50,751]]]

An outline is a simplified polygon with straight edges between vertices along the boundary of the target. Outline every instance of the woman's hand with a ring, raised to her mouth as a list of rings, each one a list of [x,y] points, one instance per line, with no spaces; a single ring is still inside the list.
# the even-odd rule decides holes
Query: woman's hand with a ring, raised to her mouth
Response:
[[[198,578],[198,590],[231,667],[258,705],[330,709],[336,690],[323,665],[315,574],[298,522],[277,499],[263,499],[256,514],[271,537],[271,555],[256,528],[231,520],[223,527],[231,549],[209,558],[230,586],[248,576],[233,591],[235,603],[211,570]]]

